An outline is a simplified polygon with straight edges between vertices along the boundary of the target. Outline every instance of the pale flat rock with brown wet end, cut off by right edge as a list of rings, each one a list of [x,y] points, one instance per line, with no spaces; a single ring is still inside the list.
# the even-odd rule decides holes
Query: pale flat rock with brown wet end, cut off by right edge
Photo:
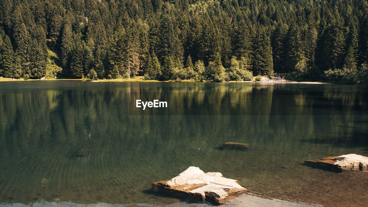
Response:
[[[357,154],[325,157],[304,161],[314,166],[332,167],[342,170],[368,171],[368,157]]]

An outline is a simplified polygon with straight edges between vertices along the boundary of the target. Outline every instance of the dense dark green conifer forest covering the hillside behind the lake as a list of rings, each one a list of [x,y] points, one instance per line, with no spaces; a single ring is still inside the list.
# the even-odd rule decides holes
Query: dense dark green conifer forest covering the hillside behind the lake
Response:
[[[0,76],[358,83],[366,0],[0,0]]]

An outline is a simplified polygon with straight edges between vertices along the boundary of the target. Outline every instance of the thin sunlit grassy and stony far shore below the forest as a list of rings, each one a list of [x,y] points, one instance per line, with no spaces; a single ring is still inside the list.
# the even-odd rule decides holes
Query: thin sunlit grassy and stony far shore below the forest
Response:
[[[43,80],[49,80],[49,81],[82,81],[82,79],[70,79],[70,78],[61,78],[61,79],[43,79]],[[24,80],[23,78],[15,79],[15,78],[0,78],[0,82],[5,81],[43,81],[40,79],[28,79]],[[94,80],[91,82],[180,82],[180,83],[196,83],[197,81],[191,81],[191,80],[181,80],[181,81],[158,81],[158,80],[148,80],[145,79],[143,76],[139,76],[136,78],[116,78],[116,79],[102,79],[102,80]],[[213,83],[212,81],[204,81],[202,83]],[[223,83],[299,83],[299,84],[330,84],[330,83],[324,83],[324,82],[312,82],[312,81],[293,81],[293,80],[287,80],[284,78],[275,78],[271,79],[268,76],[262,76],[261,81],[255,81],[254,79],[252,81],[224,81]]]

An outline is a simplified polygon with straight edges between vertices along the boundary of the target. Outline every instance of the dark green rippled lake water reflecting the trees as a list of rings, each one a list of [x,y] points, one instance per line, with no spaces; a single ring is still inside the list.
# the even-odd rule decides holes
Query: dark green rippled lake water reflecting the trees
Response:
[[[168,107],[142,110],[137,99]],[[367,99],[352,85],[3,82],[0,204],[185,206],[150,189],[198,166],[257,197],[359,206],[367,173],[301,164],[368,156]]]

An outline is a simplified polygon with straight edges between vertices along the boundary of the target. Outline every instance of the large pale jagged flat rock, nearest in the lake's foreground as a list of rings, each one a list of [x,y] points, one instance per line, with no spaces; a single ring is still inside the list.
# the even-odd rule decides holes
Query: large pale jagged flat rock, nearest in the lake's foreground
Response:
[[[226,203],[248,190],[237,180],[224,178],[219,172],[204,173],[197,167],[189,167],[171,180],[152,184],[155,192],[174,194],[185,199],[208,201],[214,205]]]

